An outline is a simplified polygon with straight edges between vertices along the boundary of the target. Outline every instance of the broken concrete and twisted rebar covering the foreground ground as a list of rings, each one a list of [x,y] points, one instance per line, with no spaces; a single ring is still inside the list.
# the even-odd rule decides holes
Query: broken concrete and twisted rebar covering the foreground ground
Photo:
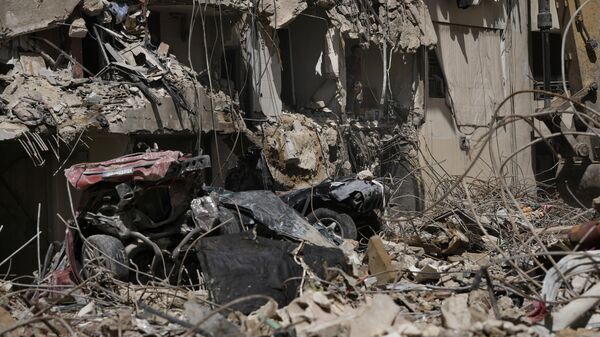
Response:
[[[598,324],[598,299],[586,293],[597,292],[600,256],[568,246],[572,224],[593,212],[528,191],[511,203],[493,182],[473,181],[419,216],[390,206],[383,232],[340,246],[348,270],[325,266],[319,278],[302,264],[284,307],[264,295],[216,304],[202,277],[177,286],[102,273],[65,288],[5,278],[0,335],[591,336],[577,328]],[[246,301],[264,304],[235,310]]]

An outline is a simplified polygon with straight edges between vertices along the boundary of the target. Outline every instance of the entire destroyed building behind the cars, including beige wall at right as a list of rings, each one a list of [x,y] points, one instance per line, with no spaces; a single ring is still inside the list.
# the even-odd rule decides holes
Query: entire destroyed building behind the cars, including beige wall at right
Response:
[[[418,210],[435,187],[417,168],[459,174],[501,97],[532,86],[518,2],[2,6],[3,212],[23,238],[38,204],[44,240],[61,238],[62,169],[142,143],[210,154],[214,185],[250,144],[288,189],[371,170],[403,179],[395,202]],[[502,113],[534,104],[516,97]],[[500,154],[531,137],[526,123],[499,132]],[[513,163],[532,179],[530,155]]]

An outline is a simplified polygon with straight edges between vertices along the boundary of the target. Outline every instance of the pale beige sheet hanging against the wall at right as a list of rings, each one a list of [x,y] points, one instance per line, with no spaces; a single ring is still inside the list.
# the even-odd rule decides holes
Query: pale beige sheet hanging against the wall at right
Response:
[[[437,24],[447,101],[460,126],[486,126],[504,98],[500,31]]]

